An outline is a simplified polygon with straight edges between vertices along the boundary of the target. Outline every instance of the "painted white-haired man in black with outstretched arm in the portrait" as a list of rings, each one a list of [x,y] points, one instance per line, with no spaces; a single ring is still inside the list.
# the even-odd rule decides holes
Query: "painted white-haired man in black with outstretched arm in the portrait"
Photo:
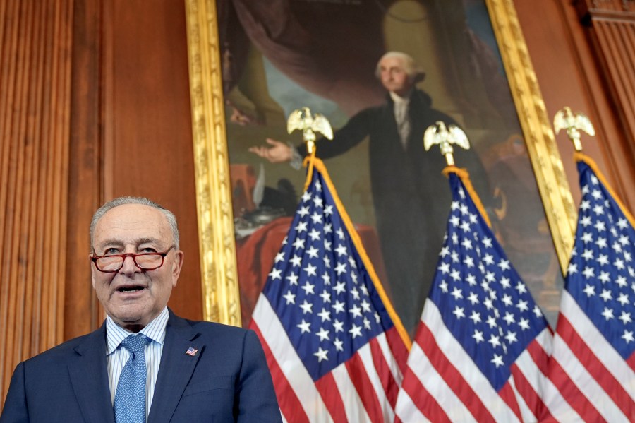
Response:
[[[369,138],[371,191],[388,278],[384,283],[406,330],[413,333],[433,280],[451,203],[441,173],[444,159],[438,150],[423,149],[423,133],[436,121],[456,123],[433,109],[430,96],[415,88],[423,72],[411,56],[386,53],[376,74],[388,91],[385,103],[351,117],[333,141],[317,141],[317,156],[340,155]],[[270,162],[297,162],[306,155],[304,145],[291,148],[272,139],[267,143],[250,151]],[[454,151],[456,164],[476,175],[477,191],[487,196],[485,172],[476,154]]]

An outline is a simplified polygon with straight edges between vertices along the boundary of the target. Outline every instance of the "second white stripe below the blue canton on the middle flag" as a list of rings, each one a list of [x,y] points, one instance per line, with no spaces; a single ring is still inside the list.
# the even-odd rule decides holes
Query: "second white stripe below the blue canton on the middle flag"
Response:
[[[461,399],[457,397],[454,391],[447,385],[417,342],[413,342],[412,344],[410,355],[408,356],[408,367],[409,371],[411,371],[410,376],[416,376],[425,390],[430,393],[430,396],[435,398],[450,421],[476,422],[470,410],[468,410]],[[407,373],[405,377],[409,377]],[[401,391],[404,390],[401,389]],[[425,404],[418,404],[417,406],[425,409]],[[409,419],[409,413],[402,415],[402,411],[399,409],[397,410],[397,415],[399,415],[399,418],[404,422],[416,421]],[[430,417],[434,419],[433,415],[430,415]]]

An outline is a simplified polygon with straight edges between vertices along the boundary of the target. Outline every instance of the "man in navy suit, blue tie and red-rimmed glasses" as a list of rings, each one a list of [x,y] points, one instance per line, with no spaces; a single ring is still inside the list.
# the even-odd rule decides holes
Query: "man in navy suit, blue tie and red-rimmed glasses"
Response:
[[[167,308],[183,266],[169,210],[117,198],[97,210],[90,237],[106,321],[18,364],[1,423],[281,421],[255,333]]]

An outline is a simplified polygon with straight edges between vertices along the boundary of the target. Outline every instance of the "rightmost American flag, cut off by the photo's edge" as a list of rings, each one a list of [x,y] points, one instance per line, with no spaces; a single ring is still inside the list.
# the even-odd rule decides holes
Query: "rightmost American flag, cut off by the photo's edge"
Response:
[[[545,402],[560,421],[635,422],[634,220],[595,163],[576,160],[582,198]]]

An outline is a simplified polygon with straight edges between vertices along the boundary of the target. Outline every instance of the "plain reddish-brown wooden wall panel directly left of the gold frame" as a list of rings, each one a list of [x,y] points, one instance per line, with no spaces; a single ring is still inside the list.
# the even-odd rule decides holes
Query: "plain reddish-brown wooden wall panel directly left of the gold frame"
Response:
[[[183,0],[111,0],[104,13],[104,191],[147,196],[179,222],[185,263],[169,305],[202,318]]]

